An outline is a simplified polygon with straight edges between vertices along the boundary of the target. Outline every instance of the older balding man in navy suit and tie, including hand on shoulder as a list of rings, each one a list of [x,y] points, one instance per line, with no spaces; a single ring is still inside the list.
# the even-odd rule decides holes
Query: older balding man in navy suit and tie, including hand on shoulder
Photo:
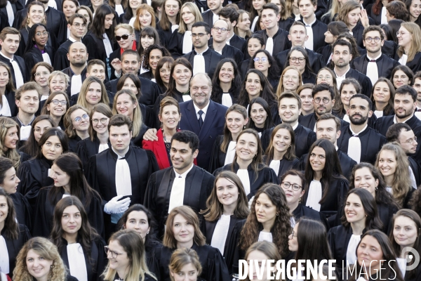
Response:
[[[192,100],[180,103],[180,129],[199,136],[197,166],[208,170],[210,154],[217,136],[222,135],[225,126],[227,107],[210,100],[212,81],[205,73],[198,73],[190,80]],[[156,129],[149,129],[143,139],[158,141]]]

